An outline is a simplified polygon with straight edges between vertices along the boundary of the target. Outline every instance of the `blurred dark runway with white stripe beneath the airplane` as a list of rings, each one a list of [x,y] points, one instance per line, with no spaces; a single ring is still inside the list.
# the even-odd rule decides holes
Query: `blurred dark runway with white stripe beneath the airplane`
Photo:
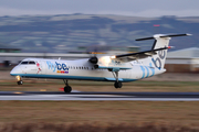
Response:
[[[199,92],[0,91],[0,100],[199,101]]]

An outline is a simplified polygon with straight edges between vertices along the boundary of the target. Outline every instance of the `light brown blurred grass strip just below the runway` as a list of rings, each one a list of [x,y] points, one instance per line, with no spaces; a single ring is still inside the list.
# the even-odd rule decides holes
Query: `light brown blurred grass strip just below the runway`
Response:
[[[171,101],[0,101],[0,122],[199,123],[199,106]]]

